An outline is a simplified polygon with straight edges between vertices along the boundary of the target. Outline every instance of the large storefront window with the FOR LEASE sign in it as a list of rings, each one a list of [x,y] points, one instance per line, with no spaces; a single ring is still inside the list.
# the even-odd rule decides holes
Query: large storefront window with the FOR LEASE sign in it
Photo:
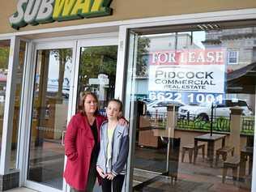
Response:
[[[250,191],[256,27],[237,26],[130,32],[134,191]]]

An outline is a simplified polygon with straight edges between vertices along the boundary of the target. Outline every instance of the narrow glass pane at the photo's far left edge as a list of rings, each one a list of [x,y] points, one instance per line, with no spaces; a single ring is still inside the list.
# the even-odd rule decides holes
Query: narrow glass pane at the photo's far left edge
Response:
[[[2,140],[2,122],[4,116],[10,40],[0,41],[0,139]],[[0,146],[2,141],[0,141]]]

